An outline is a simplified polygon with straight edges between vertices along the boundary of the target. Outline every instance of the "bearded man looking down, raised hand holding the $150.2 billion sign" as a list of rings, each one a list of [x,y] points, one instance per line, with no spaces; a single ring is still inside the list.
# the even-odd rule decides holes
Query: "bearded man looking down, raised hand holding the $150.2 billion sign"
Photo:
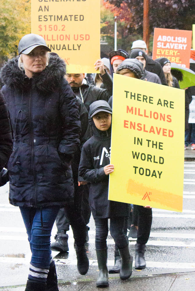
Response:
[[[66,79],[69,82],[72,90],[76,94],[76,96],[79,98],[79,100],[82,102],[80,104],[79,108],[85,108],[87,109],[87,123],[85,122],[85,114],[82,114],[80,111],[80,117],[81,117],[81,131],[83,132],[83,129],[86,131],[85,136],[83,136],[81,132],[81,143],[83,144],[84,140],[86,141],[89,139],[92,134],[90,127],[86,129],[86,125],[88,125],[88,111],[89,111],[89,106],[92,102],[96,100],[106,100],[108,101],[109,97],[112,95],[112,78],[109,76],[109,74],[106,72],[104,69],[104,64],[101,60],[97,60],[96,63],[94,64],[96,70],[100,70],[100,75],[103,81],[103,85],[105,89],[98,88],[92,84],[89,84],[87,82],[87,79],[85,79],[85,74],[66,74]],[[83,111],[83,110],[82,110]],[[84,118],[82,118],[84,116]],[[80,155],[75,156],[77,159],[77,162],[79,164],[79,158]],[[75,163],[74,163],[75,164]],[[77,169],[78,170],[78,169]],[[74,174],[74,173],[73,173]],[[85,230],[86,230],[86,241],[88,242],[89,240],[89,226],[87,225],[90,221],[90,216],[91,216],[91,210],[89,207],[89,185],[88,184],[82,184],[84,182],[79,181],[80,187],[78,188],[78,180],[76,181],[76,174],[74,175],[74,182],[76,189],[78,192],[82,192],[83,195],[78,194],[78,198],[81,198],[80,203],[82,203],[82,216],[85,220]],[[74,200],[76,202],[76,200]],[[78,203],[77,203],[78,205]],[[80,208],[80,207],[79,207]],[[56,242],[53,242],[51,244],[51,249],[53,251],[68,251],[68,234],[66,233],[69,230],[69,222],[67,221],[67,217],[65,215],[65,212],[63,209],[60,209],[58,212],[58,215],[56,217],[56,226],[57,226],[57,234],[55,235]]]

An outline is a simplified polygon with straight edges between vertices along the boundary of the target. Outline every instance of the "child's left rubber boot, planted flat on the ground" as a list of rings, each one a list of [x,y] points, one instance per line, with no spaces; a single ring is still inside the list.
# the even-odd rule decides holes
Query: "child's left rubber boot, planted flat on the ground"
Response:
[[[96,286],[100,288],[108,287],[107,248],[96,250],[96,255],[99,268]]]

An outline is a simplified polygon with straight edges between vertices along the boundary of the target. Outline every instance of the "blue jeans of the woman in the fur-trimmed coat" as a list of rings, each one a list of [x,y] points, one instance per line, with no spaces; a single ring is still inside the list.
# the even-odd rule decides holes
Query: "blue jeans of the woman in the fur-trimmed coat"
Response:
[[[19,207],[26,227],[32,257],[31,265],[49,269],[51,260],[50,237],[59,206],[34,208]]]

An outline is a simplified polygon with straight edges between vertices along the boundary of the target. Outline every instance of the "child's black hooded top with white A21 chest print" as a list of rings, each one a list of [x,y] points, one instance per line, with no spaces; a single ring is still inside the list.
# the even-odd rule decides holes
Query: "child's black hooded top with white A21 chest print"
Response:
[[[128,216],[128,204],[108,200],[109,175],[105,175],[104,166],[110,164],[111,127],[108,131],[101,131],[89,117],[93,136],[84,143],[79,175],[91,182],[89,205],[94,218],[110,218]]]

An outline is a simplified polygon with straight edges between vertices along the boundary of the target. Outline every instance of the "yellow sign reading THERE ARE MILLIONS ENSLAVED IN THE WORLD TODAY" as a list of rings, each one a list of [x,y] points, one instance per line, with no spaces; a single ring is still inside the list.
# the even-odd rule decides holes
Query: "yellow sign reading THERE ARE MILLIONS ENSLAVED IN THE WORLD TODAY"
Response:
[[[114,74],[109,200],[182,211],[185,91]]]

